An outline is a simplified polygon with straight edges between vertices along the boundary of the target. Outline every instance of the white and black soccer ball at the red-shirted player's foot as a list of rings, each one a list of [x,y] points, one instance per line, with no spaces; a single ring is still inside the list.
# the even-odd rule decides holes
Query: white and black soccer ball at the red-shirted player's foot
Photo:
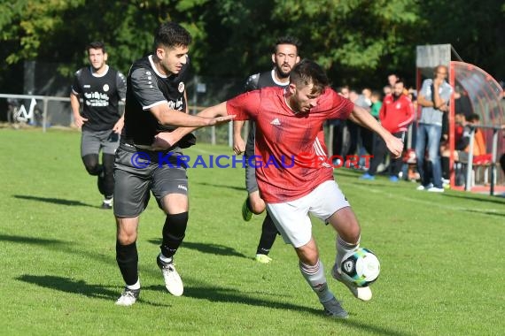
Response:
[[[354,286],[364,287],[377,280],[380,263],[377,256],[368,248],[358,248],[347,252],[340,264],[342,278]]]

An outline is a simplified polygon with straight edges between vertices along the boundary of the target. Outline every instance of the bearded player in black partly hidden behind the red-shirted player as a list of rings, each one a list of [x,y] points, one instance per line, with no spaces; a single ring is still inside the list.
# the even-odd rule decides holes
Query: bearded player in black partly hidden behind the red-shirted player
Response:
[[[277,39],[272,53],[272,62],[274,69],[265,73],[256,73],[250,76],[245,83],[245,91],[253,91],[259,88],[281,87],[285,88],[290,83],[291,68],[299,63],[299,41],[291,36],[283,36]],[[256,124],[251,121],[247,144],[244,146],[244,140],[240,134],[240,129],[244,121],[234,121],[233,141],[234,150],[237,154],[244,152],[245,156],[245,187],[247,188],[247,198],[242,206],[242,218],[245,221],[251,220],[253,213],[259,215],[265,210],[265,202],[260,197],[258,182],[254,167],[248,164],[249,157],[254,156],[254,134],[256,133]],[[255,260],[259,263],[269,263],[272,258],[268,256],[270,248],[276,241],[278,231],[272,218],[267,213],[261,226],[260,242],[256,248]]]

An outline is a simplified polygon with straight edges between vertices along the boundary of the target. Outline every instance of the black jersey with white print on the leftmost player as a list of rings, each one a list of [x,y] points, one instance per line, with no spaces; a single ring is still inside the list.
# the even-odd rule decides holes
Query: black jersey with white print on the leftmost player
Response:
[[[82,129],[86,131],[113,129],[120,118],[119,102],[125,99],[126,91],[125,76],[108,65],[102,75],[93,73],[90,66],[79,69],[74,76],[72,92],[82,98],[82,117],[88,119],[82,125]]]

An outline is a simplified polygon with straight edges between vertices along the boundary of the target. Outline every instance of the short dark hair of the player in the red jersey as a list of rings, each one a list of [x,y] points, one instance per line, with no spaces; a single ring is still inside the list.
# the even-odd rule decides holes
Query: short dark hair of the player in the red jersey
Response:
[[[297,87],[299,85],[307,86],[312,83],[313,94],[322,94],[324,89],[330,85],[330,80],[321,65],[308,59],[303,59],[299,64],[293,66],[290,73],[290,82]]]

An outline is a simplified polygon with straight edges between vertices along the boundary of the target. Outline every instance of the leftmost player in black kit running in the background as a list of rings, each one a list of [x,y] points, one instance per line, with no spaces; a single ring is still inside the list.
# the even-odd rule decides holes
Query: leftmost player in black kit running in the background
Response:
[[[119,101],[125,100],[126,78],[106,65],[103,42],[88,45],[90,66],[75,73],[70,105],[75,126],[82,128],[81,157],[90,175],[98,177],[98,190],[105,199],[103,209],[113,209],[114,153],[119,145],[123,117]],[[80,113],[82,98],[82,114]],[[98,155],[102,150],[102,164]]]

